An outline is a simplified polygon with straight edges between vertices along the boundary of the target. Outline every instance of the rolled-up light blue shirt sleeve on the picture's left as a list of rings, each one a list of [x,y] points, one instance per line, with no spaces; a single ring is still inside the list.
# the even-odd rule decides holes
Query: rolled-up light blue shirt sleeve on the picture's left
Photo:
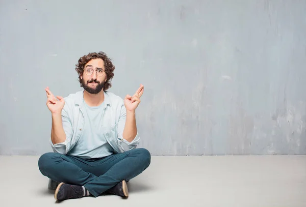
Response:
[[[63,124],[63,128],[64,128],[64,131],[65,131],[65,134],[66,134],[66,140],[64,142],[61,142],[61,143],[53,144],[52,140],[50,138],[49,142],[50,142],[54,152],[65,155],[70,150],[71,137],[72,137],[72,125],[71,125],[71,121],[69,119],[69,116],[68,116],[68,113],[67,113],[65,107],[62,110],[62,124]]]

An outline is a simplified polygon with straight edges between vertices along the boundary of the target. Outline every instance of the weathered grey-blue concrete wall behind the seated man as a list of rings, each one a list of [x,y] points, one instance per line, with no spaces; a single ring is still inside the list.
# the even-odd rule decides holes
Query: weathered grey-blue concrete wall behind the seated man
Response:
[[[51,151],[44,88],[81,90],[74,65],[105,51],[110,91],[140,83],[152,155],[306,154],[305,1],[0,2],[0,154]]]

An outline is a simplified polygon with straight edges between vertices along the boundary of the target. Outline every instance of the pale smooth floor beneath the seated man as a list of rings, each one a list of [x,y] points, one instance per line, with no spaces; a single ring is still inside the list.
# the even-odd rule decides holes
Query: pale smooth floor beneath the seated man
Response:
[[[39,156],[0,156],[1,206],[306,206],[306,156],[152,157],[115,195],[60,203],[47,190]]]

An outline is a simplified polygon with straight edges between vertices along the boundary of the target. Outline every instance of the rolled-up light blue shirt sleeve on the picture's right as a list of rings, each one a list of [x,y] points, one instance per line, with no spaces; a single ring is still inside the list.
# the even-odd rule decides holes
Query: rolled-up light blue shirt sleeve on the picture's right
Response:
[[[119,117],[118,126],[117,126],[117,136],[118,136],[117,137],[117,144],[118,144],[121,152],[125,152],[125,151],[132,150],[132,149],[136,148],[137,145],[140,142],[140,136],[138,134],[138,131],[137,131],[137,134],[136,134],[135,138],[131,142],[129,142],[129,141],[127,141],[123,138],[123,130],[124,130],[124,126],[125,126],[125,120],[126,120],[126,109],[125,109],[124,103],[122,103],[121,111],[120,111],[120,117]]]

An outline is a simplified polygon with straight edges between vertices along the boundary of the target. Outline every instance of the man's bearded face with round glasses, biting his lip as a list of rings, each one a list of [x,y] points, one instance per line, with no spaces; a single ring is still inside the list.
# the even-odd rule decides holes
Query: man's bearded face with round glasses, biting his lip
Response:
[[[104,61],[100,58],[89,61],[84,67],[81,79],[85,91],[90,94],[98,94],[103,90],[106,81]]]

